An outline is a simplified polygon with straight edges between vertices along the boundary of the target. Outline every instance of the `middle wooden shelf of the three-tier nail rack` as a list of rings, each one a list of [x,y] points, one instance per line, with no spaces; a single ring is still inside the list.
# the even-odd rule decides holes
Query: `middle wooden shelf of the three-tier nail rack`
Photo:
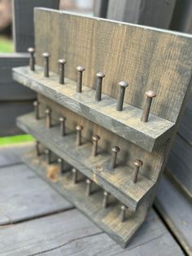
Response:
[[[18,117],[17,125],[100,187],[116,195],[131,210],[137,210],[153,191],[155,183],[142,174],[138,174],[137,183],[132,183],[133,170],[121,166],[118,161],[116,169],[110,170],[111,155],[101,148],[98,148],[98,156],[92,157],[92,143],[89,141],[83,140],[82,145],[76,147],[76,133],[73,131],[67,130],[67,135],[61,137],[58,125],[46,129],[45,119],[36,120],[34,113]]]

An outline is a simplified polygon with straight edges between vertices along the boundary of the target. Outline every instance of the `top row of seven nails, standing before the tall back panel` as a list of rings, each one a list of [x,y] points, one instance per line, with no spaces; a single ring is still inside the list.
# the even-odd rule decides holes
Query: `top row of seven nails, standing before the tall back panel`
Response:
[[[32,71],[35,70],[35,60],[34,60],[34,48],[28,48],[28,52],[30,53],[30,60],[29,65]],[[42,54],[42,57],[44,58],[44,77],[50,77],[50,70],[49,70],[49,63],[50,63],[50,54],[47,52],[44,52]],[[64,59],[59,59],[59,84],[64,84],[64,66],[67,63]],[[77,72],[77,82],[76,82],[76,92],[82,93],[82,80],[83,80],[83,72],[85,71],[84,66],[78,66],[76,67]],[[97,82],[96,82],[96,90],[95,90],[95,100],[101,101],[102,100],[102,86],[103,86],[103,78],[105,77],[105,74],[103,72],[98,72],[96,74]],[[128,82],[121,81],[119,82],[120,86],[120,93],[116,104],[116,110],[122,111],[123,105],[124,105],[124,94],[126,87],[129,86]],[[143,111],[142,111],[142,117],[141,121],[146,122],[148,121],[152,99],[155,98],[156,93],[153,90],[146,91],[146,104],[144,105]]]

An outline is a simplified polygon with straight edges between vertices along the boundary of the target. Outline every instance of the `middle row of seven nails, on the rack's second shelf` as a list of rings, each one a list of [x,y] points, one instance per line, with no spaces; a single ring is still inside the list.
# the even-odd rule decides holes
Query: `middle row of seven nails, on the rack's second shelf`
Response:
[[[39,119],[39,102],[38,101],[34,101],[33,105],[35,107],[35,117],[38,120]],[[46,108],[45,110],[46,113],[46,128],[50,129],[52,126],[52,118],[51,118],[51,109],[50,108]],[[60,124],[60,134],[61,136],[66,136],[66,117],[59,117],[59,124]],[[81,132],[83,130],[83,126],[81,125],[76,125],[76,147],[79,147],[82,145],[82,135]],[[98,141],[100,139],[100,136],[98,135],[93,135],[92,136],[92,151],[91,151],[91,156],[92,157],[96,157],[98,155]],[[110,166],[109,169],[115,169],[117,166],[117,154],[118,152],[120,152],[120,148],[119,147],[113,147],[111,148],[111,162],[110,162]],[[134,171],[133,171],[133,177],[132,177],[132,182],[133,183],[137,183],[137,176],[140,170],[140,167],[143,165],[141,160],[136,159],[135,161],[133,161],[133,166],[134,166]]]

